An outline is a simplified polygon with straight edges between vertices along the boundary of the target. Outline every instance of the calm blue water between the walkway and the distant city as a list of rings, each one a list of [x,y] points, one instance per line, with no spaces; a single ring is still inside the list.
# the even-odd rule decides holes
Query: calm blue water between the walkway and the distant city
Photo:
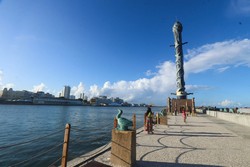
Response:
[[[118,108],[0,105],[0,166],[59,165],[66,123],[71,124],[68,160],[94,150],[110,142]],[[131,120],[135,113],[137,128],[143,126],[146,107],[120,109]]]

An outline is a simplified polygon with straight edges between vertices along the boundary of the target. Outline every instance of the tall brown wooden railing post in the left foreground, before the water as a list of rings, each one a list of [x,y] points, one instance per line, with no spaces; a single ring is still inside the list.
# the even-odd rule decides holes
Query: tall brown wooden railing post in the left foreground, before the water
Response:
[[[70,136],[70,124],[66,124],[64,133],[63,151],[62,151],[62,162],[61,162],[62,167],[67,167],[69,136]]]

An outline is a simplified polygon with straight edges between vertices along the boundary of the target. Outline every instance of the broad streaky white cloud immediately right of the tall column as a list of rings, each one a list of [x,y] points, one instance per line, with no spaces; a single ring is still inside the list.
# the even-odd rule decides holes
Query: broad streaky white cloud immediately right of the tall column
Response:
[[[207,44],[189,50],[191,57],[185,64],[185,72],[199,73],[208,69],[218,69],[229,65],[245,65],[250,67],[250,40],[229,40]]]

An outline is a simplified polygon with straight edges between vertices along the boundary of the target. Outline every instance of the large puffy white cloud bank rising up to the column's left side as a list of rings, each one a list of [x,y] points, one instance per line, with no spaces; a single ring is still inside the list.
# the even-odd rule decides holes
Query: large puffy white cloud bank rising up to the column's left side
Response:
[[[106,95],[120,97],[128,102],[166,103],[171,91],[175,91],[175,64],[165,62],[156,67],[158,72],[150,79],[140,78],[135,81],[105,82],[101,88],[90,87],[89,97]],[[145,101],[146,99],[146,101]]]

